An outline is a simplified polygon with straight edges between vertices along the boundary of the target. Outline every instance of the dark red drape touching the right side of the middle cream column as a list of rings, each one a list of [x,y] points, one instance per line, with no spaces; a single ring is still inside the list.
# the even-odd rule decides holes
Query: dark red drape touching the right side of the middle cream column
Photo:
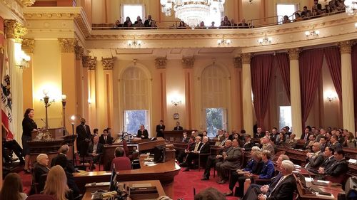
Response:
[[[298,59],[301,88],[301,115],[305,127],[308,113],[313,105],[323,63],[323,51],[313,49],[300,53]]]

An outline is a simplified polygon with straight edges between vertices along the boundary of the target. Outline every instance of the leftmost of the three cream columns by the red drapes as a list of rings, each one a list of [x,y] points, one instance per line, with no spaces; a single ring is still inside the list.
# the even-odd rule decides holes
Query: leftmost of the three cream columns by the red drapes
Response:
[[[242,88],[243,88],[243,129],[253,136],[253,104],[251,100],[251,54],[243,53],[242,59]]]

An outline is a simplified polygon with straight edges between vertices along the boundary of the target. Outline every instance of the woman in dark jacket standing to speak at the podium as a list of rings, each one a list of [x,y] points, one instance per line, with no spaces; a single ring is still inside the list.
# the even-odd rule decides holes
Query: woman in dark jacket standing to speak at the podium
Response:
[[[24,114],[24,120],[22,120],[22,148],[25,155],[25,166],[24,171],[26,173],[31,173],[30,171],[30,148],[27,141],[31,140],[31,132],[37,130],[37,125],[33,120],[34,109],[27,108]]]

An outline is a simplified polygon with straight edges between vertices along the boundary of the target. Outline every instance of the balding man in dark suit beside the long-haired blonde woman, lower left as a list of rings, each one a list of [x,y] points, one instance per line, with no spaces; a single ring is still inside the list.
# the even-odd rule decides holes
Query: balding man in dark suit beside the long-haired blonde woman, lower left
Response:
[[[34,181],[39,184],[37,189],[42,191],[44,189],[44,177],[41,177],[43,174],[49,173],[49,157],[46,154],[39,154],[36,157],[36,163],[34,164]]]

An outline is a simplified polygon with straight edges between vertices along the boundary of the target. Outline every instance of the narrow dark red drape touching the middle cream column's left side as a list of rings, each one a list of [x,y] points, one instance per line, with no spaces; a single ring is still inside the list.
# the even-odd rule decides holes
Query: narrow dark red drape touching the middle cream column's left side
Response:
[[[281,73],[286,96],[288,96],[290,102],[290,60],[288,53],[277,53],[276,56],[274,56],[274,62]]]

